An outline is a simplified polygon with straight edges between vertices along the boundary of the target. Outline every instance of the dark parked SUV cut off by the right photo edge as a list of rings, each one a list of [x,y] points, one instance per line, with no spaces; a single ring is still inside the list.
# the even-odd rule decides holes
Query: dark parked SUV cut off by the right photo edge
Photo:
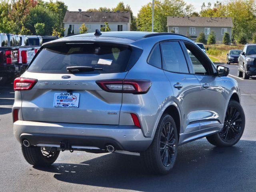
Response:
[[[256,75],[256,44],[246,44],[238,58],[238,77],[249,79]]]

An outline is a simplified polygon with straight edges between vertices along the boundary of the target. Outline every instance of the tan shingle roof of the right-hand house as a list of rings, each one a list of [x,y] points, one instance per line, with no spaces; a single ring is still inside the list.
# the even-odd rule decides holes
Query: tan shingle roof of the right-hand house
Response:
[[[230,17],[167,17],[167,26],[232,27]]]

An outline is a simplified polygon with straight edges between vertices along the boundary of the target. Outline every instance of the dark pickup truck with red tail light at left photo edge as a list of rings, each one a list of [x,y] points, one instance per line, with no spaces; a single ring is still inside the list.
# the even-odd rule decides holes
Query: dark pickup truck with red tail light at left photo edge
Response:
[[[15,35],[0,33],[0,86],[20,74],[18,50]]]

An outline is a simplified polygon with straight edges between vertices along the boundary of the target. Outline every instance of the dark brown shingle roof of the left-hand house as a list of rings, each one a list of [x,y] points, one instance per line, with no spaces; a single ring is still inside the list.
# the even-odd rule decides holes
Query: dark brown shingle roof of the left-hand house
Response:
[[[129,23],[130,12],[67,11],[64,23]]]

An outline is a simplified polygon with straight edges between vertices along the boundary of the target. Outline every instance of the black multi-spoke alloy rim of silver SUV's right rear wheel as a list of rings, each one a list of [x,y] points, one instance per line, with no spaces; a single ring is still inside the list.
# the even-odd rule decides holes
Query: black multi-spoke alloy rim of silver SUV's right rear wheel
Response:
[[[164,166],[168,167],[174,160],[176,139],[174,128],[170,122],[163,126],[160,136],[160,157]]]

